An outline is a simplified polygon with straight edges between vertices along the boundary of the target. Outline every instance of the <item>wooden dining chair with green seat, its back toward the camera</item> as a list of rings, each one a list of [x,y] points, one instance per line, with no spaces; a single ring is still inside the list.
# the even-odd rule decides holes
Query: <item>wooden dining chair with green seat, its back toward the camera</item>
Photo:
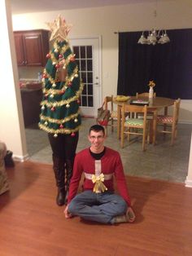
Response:
[[[132,113],[143,113],[142,118],[132,118]],[[128,135],[130,141],[130,135],[142,136],[142,150],[146,149],[146,138],[149,135],[150,121],[146,119],[147,107],[123,104],[121,114],[121,136],[120,146],[124,148],[124,135]],[[126,117],[126,119],[125,119]]]

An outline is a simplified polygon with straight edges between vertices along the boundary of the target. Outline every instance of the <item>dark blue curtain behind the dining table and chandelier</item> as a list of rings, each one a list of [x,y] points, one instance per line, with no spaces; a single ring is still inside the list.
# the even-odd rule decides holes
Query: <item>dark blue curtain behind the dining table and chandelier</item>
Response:
[[[192,29],[167,30],[171,42],[137,44],[140,32],[119,33],[117,95],[149,90],[155,81],[157,96],[192,99]]]

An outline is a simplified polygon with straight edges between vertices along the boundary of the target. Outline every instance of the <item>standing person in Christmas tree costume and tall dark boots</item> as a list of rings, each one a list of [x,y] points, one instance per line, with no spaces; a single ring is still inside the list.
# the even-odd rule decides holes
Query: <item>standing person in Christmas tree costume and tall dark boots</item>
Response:
[[[51,30],[50,41],[54,43],[46,55],[48,60],[42,76],[43,99],[39,127],[48,133],[58,187],[56,202],[64,205],[81,126],[79,104],[83,84],[67,38],[71,26],[60,15],[48,25]]]

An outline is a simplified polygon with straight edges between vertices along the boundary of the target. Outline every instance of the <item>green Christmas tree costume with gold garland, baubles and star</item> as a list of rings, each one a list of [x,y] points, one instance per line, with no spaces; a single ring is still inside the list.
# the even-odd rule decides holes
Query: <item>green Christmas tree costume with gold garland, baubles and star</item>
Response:
[[[55,42],[46,55],[48,60],[42,75],[43,99],[39,127],[55,137],[58,134],[74,136],[81,126],[79,104],[83,84],[67,38],[71,25],[66,24],[60,15],[48,25],[50,41]],[[67,74],[64,80],[59,77],[62,72]]]

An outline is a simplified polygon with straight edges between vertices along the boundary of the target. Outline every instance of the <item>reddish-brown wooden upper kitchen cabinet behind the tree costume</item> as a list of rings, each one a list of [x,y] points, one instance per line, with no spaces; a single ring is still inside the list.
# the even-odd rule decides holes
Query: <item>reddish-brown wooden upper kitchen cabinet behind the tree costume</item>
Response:
[[[49,31],[44,29],[15,31],[18,66],[45,66],[49,52]]]

